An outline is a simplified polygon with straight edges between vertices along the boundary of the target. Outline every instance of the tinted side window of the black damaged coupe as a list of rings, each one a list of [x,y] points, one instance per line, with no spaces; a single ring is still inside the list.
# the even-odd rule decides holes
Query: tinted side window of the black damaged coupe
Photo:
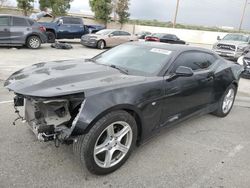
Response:
[[[181,54],[174,62],[171,72],[175,72],[179,66],[191,68],[193,71],[204,70],[210,67],[216,58],[203,52],[186,52]]]

